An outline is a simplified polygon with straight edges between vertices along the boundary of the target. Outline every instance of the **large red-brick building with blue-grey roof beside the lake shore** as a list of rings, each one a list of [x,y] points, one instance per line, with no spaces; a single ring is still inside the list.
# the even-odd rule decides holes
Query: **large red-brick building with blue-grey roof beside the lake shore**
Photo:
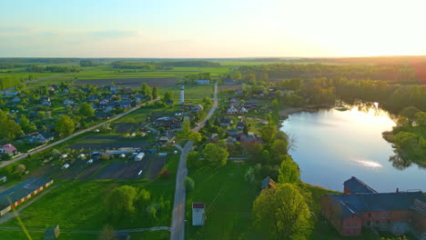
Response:
[[[322,214],[340,235],[360,235],[362,227],[425,235],[426,196],[421,191],[377,193],[355,177],[344,188],[347,193],[321,197]]]

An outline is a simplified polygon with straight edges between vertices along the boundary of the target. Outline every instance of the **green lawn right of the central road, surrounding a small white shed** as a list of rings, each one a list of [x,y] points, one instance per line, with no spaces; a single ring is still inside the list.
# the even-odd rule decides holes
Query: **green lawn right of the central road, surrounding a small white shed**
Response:
[[[256,239],[250,229],[251,207],[259,187],[244,180],[248,168],[243,163],[228,162],[214,170],[189,169],[189,176],[195,181],[186,206],[190,239]],[[206,204],[207,225],[192,226],[193,202]]]

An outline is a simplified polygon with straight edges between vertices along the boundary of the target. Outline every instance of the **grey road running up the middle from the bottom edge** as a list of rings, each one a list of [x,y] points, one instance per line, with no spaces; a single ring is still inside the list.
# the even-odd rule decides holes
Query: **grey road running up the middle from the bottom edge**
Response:
[[[198,124],[197,127],[192,129],[194,132],[198,132],[201,127],[206,125],[206,122],[210,117],[215,113],[218,108],[218,84],[215,85],[215,95],[213,97],[214,104],[211,107],[210,111],[206,118]],[[184,180],[188,175],[187,168],[187,155],[191,151],[192,141],[183,147],[180,154],[179,165],[177,166],[177,175],[176,175],[176,190],[175,190],[175,203],[173,206],[173,216],[172,216],[172,225],[171,225],[171,240],[184,240],[185,239],[185,204],[186,204],[186,192]],[[189,222],[187,223],[190,224]]]

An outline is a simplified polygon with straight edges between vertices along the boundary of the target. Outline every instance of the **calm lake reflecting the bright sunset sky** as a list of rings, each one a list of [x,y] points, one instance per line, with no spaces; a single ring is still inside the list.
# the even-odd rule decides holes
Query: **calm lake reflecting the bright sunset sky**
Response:
[[[397,187],[424,192],[425,168],[390,160],[395,154],[381,133],[394,125],[386,111],[363,105],[292,114],[280,130],[296,138],[289,155],[299,164],[305,183],[343,191],[343,182],[353,175],[378,192]]]

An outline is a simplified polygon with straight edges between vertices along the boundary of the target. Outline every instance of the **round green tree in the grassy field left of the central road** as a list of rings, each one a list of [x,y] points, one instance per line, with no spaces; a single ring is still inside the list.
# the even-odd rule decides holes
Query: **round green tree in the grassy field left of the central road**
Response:
[[[106,206],[114,216],[121,217],[135,213],[135,200],[137,190],[130,185],[122,185],[114,188],[106,197]]]

